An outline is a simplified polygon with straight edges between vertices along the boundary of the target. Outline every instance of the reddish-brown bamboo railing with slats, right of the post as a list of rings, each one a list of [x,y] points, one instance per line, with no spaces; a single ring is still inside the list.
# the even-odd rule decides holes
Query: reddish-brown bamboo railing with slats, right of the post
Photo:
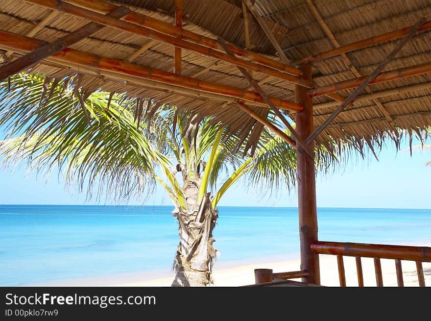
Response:
[[[376,283],[378,287],[383,286],[382,266],[380,259],[395,260],[397,283],[399,287],[404,286],[401,260],[416,262],[419,286],[421,287],[425,287],[422,262],[431,262],[431,247],[317,241],[311,244],[311,250],[318,254],[330,254],[337,256],[338,277],[340,280],[340,286],[342,287],[346,286],[343,256],[354,256],[356,258],[358,284],[360,287],[363,286],[361,257],[370,257],[374,259],[374,269],[376,272]]]

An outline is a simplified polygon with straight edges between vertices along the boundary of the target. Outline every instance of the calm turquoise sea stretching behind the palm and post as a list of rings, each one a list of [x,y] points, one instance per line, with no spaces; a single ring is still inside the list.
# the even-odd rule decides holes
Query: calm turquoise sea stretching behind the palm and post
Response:
[[[0,286],[170,271],[178,244],[171,206],[0,205]],[[320,208],[319,239],[430,244],[431,210]],[[216,265],[296,259],[293,207],[219,207]]]

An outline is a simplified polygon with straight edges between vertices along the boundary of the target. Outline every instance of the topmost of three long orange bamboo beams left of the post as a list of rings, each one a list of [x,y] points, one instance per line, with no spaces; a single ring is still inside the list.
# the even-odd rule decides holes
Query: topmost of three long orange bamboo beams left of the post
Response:
[[[86,13],[85,17],[84,16],[80,16],[80,17],[85,18],[85,19],[89,19],[91,17],[94,18],[94,16],[97,15],[97,12],[99,12],[99,13],[103,12],[104,13],[104,12],[113,10],[117,7],[117,5],[103,1],[103,0],[91,0],[91,1],[88,1],[88,0],[68,0],[69,3],[66,3],[66,2],[60,1],[60,0],[29,0],[29,2],[40,4],[43,6],[50,7],[50,8],[52,8],[52,7],[57,8],[55,2],[58,2],[61,4],[61,7],[64,10],[70,10],[70,11],[74,12],[74,13],[72,13],[72,12],[68,12],[68,13],[75,14],[78,16],[80,16],[78,14],[78,12],[80,12],[80,14],[83,13],[83,11],[79,11],[78,9],[83,10],[85,8],[85,9],[94,10],[91,12],[88,12],[89,10],[84,11]],[[66,11],[64,11],[64,12],[66,12]],[[98,17],[100,18],[100,16],[98,16]],[[222,54],[222,53],[219,51],[216,51],[219,47],[218,47],[216,40],[214,40],[214,39],[193,33],[191,31],[179,28],[175,25],[170,25],[170,24],[165,23],[163,21],[145,16],[142,14],[138,14],[136,12],[130,12],[127,16],[125,16],[123,18],[123,20],[124,21],[121,22],[121,23],[123,23],[123,24],[121,24],[121,26],[120,25],[118,25],[118,26],[110,25],[110,26],[115,27],[115,28],[120,28],[122,30],[122,28],[126,26],[125,22],[127,21],[129,23],[132,23],[132,26],[130,26],[130,24],[128,24],[126,31],[135,33],[135,32],[138,32],[138,29],[139,29],[140,30],[139,34],[143,35],[144,37],[154,37],[151,39],[162,41],[162,42],[168,42],[171,45],[174,45],[174,46],[177,46],[177,47],[180,47],[183,49],[192,50],[192,51],[202,53],[205,55],[212,56],[212,54],[213,54],[215,58],[223,60],[221,58],[218,58],[218,55]],[[143,27],[144,27],[144,29],[142,29]],[[181,37],[181,39],[183,39],[185,41],[178,39],[176,37]],[[190,43],[189,41],[192,41],[194,43]],[[196,44],[198,44],[200,46],[198,46]],[[204,47],[204,48],[202,48],[202,47]],[[256,52],[253,52],[250,50],[244,50],[244,49],[241,49],[241,48],[239,48],[235,45],[231,45],[231,44],[229,45],[229,48],[236,55],[239,55],[241,57],[244,57],[246,59],[254,61],[254,64],[251,64],[251,65],[254,65],[254,68],[256,70],[250,68],[251,65],[249,67],[242,66],[244,68],[252,69],[253,71],[265,73],[264,71],[268,71],[268,68],[264,68],[264,66],[266,66],[266,67],[269,67],[269,69],[273,68],[276,71],[291,74],[294,76],[301,75],[300,70],[293,68],[291,66],[287,66],[285,64],[282,64],[278,61],[275,61],[271,58],[260,55]],[[213,49],[213,50],[211,50],[211,49]],[[214,50],[214,49],[216,49],[216,50]],[[225,56],[225,58],[226,58],[226,56]],[[240,60],[242,60],[242,59],[238,59],[238,60],[236,60],[236,62],[243,64],[242,62],[240,62]],[[227,61],[227,62],[233,63],[231,61]],[[248,63],[250,63],[250,62],[248,62]],[[256,67],[258,67],[258,68],[256,68]],[[262,71],[259,71],[257,69],[262,69]]]

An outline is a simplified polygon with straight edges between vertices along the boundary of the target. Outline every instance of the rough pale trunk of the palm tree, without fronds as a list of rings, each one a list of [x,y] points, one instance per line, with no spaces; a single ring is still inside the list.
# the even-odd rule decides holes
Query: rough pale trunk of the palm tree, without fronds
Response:
[[[189,210],[177,210],[180,244],[174,260],[175,278],[171,286],[206,286],[212,282],[216,258],[213,229],[218,212],[211,206],[209,193],[197,204],[197,183],[184,189]]]

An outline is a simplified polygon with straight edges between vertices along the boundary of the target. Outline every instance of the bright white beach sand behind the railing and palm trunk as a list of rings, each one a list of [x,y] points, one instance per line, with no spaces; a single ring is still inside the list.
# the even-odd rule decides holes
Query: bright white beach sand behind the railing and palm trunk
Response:
[[[381,260],[384,286],[397,286],[397,276],[394,260]],[[298,271],[298,260],[273,262],[264,264],[247,264],[229,268],[214,268],[214,285],[241,286],[254,284],[254,269],[272,269],[273,272]],[[416,264],[412,261],[402,261],[404,285],[418,286]],[[353,257],[344,257],[344,269],[347,286],[358,286],[356,262]],[[425,284],[431,286],[431,263],[423,263]],[[320,255],[321,284],[324,286],[339,286],[338,269],[334,255]],[[364,286],[376,286],[374,261],[372,258],[362,258]],[[111,284],[117,286],[170,286],[172,275],[129,283]],[[300,281],[300,280],[299,280]]]

